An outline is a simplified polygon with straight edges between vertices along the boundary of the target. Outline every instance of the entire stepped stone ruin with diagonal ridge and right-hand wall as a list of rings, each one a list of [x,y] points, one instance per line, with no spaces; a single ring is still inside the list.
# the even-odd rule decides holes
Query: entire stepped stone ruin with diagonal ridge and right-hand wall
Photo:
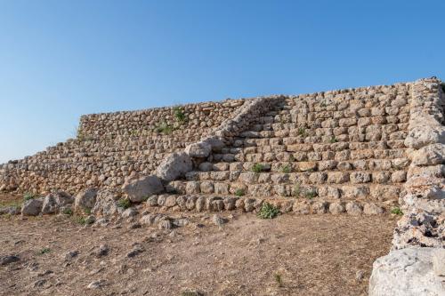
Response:
[[[444,105],[432,77],[82,116],[77,139],[0,166],[0,190],[80,192],[96,214],[118,212],[120,196],[175,211],[403,212],[369,293],[440,295]],[[413,256],[427,278],[407,272]]]

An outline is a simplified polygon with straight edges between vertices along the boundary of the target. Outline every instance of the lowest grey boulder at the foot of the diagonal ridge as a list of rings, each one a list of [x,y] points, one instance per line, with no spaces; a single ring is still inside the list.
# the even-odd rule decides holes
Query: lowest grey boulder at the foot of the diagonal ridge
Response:
[[[163,191],[164,186],[161,180],[153,175],[134,180],[124,186],[126,196],[134,203],[142,202],[148,197],[157,195]]]

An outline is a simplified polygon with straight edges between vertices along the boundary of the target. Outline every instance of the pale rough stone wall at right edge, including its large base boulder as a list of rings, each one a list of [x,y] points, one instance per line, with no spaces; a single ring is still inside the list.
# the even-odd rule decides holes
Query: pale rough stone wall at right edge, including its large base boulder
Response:
[[[444,107],[441,81],[433,77],[413,84],[403,216],[394,229],[392,251],[374,262],[369,295],[445,294]]]

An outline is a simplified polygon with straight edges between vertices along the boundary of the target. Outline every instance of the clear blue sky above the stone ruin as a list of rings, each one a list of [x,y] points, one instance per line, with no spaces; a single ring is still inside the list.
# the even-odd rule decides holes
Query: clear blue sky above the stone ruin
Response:
[[[445,77],[445,1],[0,0],[0,163],[82,114]]]

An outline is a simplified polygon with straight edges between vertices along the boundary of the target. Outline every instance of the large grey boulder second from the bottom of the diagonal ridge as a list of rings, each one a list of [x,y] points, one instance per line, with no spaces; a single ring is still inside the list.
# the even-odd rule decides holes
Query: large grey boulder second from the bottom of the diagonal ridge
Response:
[[[167,182],[183,177],[193,169],[190,156],[185,152],[176,152],[167,156],[156,170],[156,175]]]

